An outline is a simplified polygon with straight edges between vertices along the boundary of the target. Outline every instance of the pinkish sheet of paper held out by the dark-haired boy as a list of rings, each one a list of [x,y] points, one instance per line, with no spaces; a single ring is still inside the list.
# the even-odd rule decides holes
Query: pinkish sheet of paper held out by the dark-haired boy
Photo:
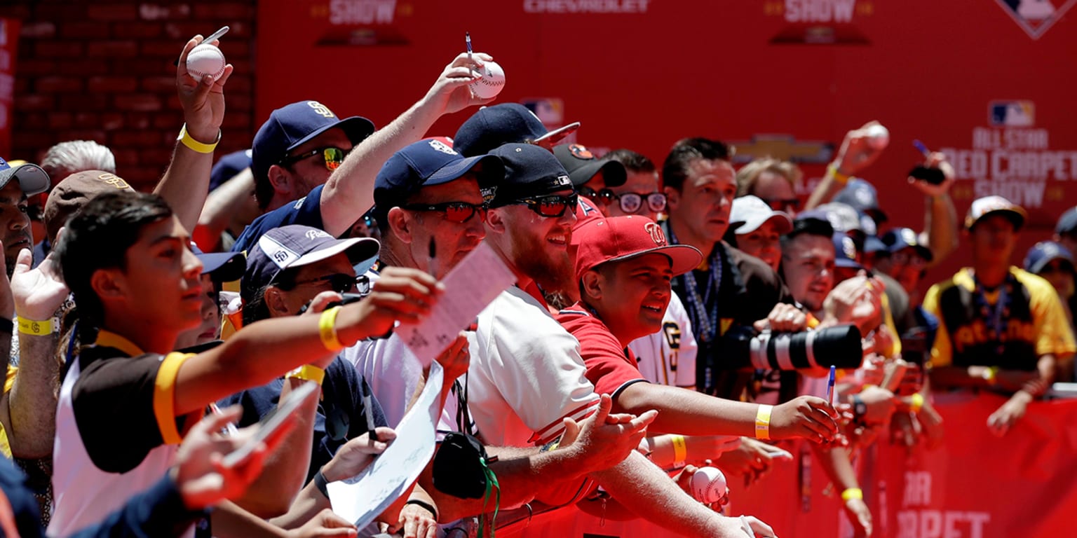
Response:
[[[448,348],[457,334],[501,292],[516,282],[490,245],[479,243],[445,275],[445,294],[418,325],[401,325],[394,331],[425,367]]]

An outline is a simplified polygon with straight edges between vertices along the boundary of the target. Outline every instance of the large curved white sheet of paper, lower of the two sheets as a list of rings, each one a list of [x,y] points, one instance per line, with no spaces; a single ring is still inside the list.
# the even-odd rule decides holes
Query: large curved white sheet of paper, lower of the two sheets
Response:
[[[354,478],[328,484],[334,512],[362,529],[419,478],[434,455],[440,392],[442,366],[434,363],[419,399],[396,426],[396,439]]]

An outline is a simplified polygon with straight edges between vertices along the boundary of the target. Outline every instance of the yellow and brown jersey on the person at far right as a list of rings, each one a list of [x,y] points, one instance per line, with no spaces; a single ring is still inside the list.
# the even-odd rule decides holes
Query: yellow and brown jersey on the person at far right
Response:
[[[1054,288],[1010,267],[1005,283],[985,291],[968,268],[935,284],[924,309],[939,318],[933,366],[997,366],[1036,369],[1040,355],[1062,359],[1077,351]]]

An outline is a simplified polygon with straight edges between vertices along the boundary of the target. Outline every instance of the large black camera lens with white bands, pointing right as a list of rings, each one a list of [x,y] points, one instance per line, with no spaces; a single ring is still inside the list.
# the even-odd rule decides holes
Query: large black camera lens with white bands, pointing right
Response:
[[[852,324],[800,332],[756,332],[741,326],[725,338],[728,355],[718,367],[727,370],[859,368],[864,359],[861,331]]]

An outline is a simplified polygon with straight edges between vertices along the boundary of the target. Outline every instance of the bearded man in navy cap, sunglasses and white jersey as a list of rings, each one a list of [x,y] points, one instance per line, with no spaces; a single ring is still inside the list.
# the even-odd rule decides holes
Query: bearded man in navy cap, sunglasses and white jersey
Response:
[[[550,275],[572,265],[568,247],[577,194],[564,168],[541,147],[505,144],[491,154],[501,157],[505,179],[490,201],[486,241],[516,274],[517,287],[478,316],[467,404],[487,443],[546,445],[565,431],[567,419],[588,416],[607,399],[587,381],[576,339],[541,296],[524,292],[533,283],[550,285]],[[745,535],[740,521],[703,507],[638,452],[586,476],[638,515],[674,533]]]

